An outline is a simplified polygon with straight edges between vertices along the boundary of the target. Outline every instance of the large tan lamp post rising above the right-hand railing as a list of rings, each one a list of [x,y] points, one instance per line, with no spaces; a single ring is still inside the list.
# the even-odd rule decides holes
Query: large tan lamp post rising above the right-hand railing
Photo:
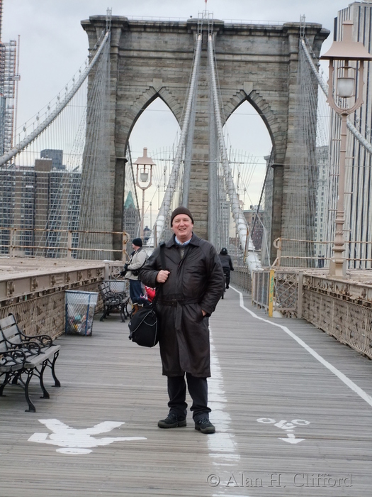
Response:
[[[320,59],[329,60],[329,80],[327,102],[341,116],[341,142],[339,149],[339,185],[336,211],[336,228],[333,253],[329,263],[329,275],[342,278],[346,274],[344,258],[344,192],[345,192],[345,160],[346,160],[346,119],[363,104],[363,69],[364,61],[372,60],[363,43],[352,41],[353,23],[344,21],[342,41],[334,41],[325,55]],[[354,62],[354,66],[350,65]],[[356,91],[356,68],[359,62],[359,84]],[[336,74],[334,74],[336,72]],[[336,85],[337,81],[337,85]],[[348,101],[356,95],[354,105],[348,107]],[[340,99],[343,99],[340,103]]]

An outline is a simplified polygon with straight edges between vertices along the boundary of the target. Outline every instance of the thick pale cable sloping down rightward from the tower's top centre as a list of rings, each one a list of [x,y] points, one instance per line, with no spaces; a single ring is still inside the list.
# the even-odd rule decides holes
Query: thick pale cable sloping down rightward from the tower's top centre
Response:
[[[215,121],[218,133],[218,144],[220,146],[220,151],[221,151],[223,173],[225,175],[227,192],[230,197],[232,215],[235,220],[235,226],[237,227],[237,234],[239,236],[240,246],[242,247],[243,251],[245,251],[247,248],[246,263],[250,273],[252,274],[252,271],[254,271],[255,269],[256,270],[261,269],[261,262],[259,261],[257,252],[254,249],[254,245],[252,243],[252,239],[249,234],[247,221],[239,205],[239,197],[237,196],[237,191],[235,190],[234,180],[232,179],[232,174],[230,171],[229,159],[227,157],[227,151],[222,132],[220,102],[218,101],[217,83],[215,78],[213,35],[208,35],[208,59],[210,66],[210,81],[212,84],[213,102],[215,107]]]

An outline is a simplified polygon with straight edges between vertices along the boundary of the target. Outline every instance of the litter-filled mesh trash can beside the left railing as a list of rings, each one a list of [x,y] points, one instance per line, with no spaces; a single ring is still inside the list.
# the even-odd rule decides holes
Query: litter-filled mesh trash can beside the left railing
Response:
[[[66,334],[91,335],[98,293],[66,290]]]

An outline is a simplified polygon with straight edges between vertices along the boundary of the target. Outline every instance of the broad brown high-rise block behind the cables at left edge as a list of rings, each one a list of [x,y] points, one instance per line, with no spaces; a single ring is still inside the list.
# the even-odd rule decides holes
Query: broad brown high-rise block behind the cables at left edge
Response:
[[[81,173],[52,168],[51,158],[33,166],[0,168],[0,253],[66,256],[67,230],[79,229]],[[72,234],[72,246],[78,235]]]

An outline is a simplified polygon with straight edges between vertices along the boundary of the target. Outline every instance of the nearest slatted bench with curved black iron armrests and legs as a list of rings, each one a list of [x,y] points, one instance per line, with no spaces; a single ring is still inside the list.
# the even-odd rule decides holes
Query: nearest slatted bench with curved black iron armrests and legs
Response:
[[[28,337],[19,329],[18,324],[11,314],[0,320],[0,397],[4,388],[9,383],[20,384],[25,391],[28,409],[26,413],[35,413],[35,405],[30,400],[28,385],[33,376],[37,376],[43,397],[50,398],[44,386],[44,371],[49,367],[56,387],[61,383],[55,376],[55,361],[60,354],[60,345],[53,344],[52,338],[47,334]],[[23,378],[25,376],[26,378]]]

